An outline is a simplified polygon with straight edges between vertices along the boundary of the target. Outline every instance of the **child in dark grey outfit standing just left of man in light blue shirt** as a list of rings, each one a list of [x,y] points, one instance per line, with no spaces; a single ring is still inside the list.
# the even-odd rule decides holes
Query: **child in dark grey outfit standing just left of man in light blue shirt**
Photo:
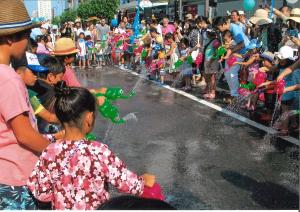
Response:
[[[204,98],[215,99],[216,98],[216,74],[219,70],[218,60],[213,58],[215,49],[215,42],[219,42],[216,38],[216,32],[207,29],[207,37],[210,40],[207,45],[204,47],[204,78],[206,81],[206,93]]]

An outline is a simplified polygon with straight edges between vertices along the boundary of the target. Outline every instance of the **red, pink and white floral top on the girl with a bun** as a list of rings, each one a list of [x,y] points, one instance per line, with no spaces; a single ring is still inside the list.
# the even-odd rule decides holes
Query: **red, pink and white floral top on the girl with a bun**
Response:
[[[120,192],[141,195],[144,180],[129,171],[106,145],[85,139],[61,141],[42,153],[28,187],[53,209],[97,209],[109,199],[105,183]]]

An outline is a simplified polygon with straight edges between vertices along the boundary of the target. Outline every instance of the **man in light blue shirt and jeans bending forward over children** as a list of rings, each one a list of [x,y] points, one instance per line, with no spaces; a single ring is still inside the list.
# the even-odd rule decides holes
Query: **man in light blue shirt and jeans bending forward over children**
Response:
[[[217,28],[219,31],[224,32],[229,30],[232,33],[233,39],[237,44],[231,50],[232,53],[237,54],[245,54],[246,53],[246,46],[249,45],[250,41],[248,37],[243,32],[242,28],[236,24],[230,23],[225,17],[217,17],[213,22],[213,26]],[[237,58],[238,62],[242,62],[242,58]],[[231,67],[228,67],[228,71],[225,72],[225,77],[227,83],[230,88],[231,97],[238,97],[238,89],[239,89],[239,79],[238,79],[238,72],[240,70],[240,65],[236,64]],[[231,102],[231,98],[228,99],[228,103]]]

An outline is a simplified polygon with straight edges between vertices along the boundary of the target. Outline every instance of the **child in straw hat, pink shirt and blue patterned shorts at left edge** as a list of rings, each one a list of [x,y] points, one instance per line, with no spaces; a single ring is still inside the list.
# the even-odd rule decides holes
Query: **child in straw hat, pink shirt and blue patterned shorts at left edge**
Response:
[[[9,12],[16,8],[18,13]],[[1,209],[33,210],[35,202],[26,181],[37,162],[37,153],[50,142],[37,132],[25,84],[10,63],[24,55],[30,29],[36,26],[20,0],[11,0],[9,4],[0,1],[0,22]]]

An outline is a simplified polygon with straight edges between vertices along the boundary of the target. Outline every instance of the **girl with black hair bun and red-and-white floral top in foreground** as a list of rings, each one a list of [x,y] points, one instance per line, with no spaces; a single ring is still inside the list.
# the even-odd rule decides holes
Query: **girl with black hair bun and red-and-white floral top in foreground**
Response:
[[[93,130],[97,104],[85,88],[55,87],[55,113],[66,130],[62,141],[41,155],[28,181],[40,201],[53,209],[97,209],[109,199],[105,183],[120,192],[141,195],[149,175],[138,177],[108,147],[85,136]]]

